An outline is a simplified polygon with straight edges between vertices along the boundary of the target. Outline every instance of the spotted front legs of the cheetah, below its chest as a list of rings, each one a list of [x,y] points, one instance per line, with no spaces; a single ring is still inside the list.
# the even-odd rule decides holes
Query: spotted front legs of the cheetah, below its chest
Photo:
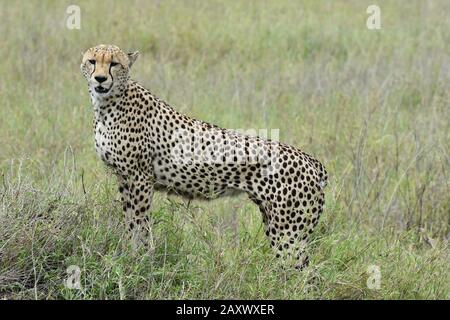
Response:
[[[133,249],[153,249],[151,221],[147,216],[153,197],[153,182],[142,174],[128,178],[119,177],[125,225]]]

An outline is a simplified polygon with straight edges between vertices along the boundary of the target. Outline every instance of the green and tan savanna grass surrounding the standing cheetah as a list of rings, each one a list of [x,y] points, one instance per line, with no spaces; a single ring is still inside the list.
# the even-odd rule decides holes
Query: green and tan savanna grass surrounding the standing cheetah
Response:
[[[0,297],[448,299],[450,2],[378,1],[376,31],[370,4],[1,1]],[[308,269],[279,267],[245,195],[157,194],[155,252],[133,253],[79,71],[99,43],[139,50],[133,77],[179,111],[326,165]]]

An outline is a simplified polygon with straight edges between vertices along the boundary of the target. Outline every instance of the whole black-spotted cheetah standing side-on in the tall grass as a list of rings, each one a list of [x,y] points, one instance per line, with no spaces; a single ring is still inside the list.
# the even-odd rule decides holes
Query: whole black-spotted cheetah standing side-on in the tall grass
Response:
[[[176,111],[130,78],[138,56],[102,44],[88,49],[80,66],[95,149],[118,178],[132,244],[148,243],[155,190],[208,200],[245,192],[261,211],[275,255],[306,266],[308,237],[323,212],[324,166],[290,145]]]

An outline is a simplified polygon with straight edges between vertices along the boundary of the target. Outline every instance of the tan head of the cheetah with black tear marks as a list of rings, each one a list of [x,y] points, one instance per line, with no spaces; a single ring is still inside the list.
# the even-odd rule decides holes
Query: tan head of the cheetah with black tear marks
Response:
[[[83,54],[81,72],[88,81],[91,95],[107,97],[123,90],[130,68],[139,52],[125,53],[114,45],[98,45]]]

